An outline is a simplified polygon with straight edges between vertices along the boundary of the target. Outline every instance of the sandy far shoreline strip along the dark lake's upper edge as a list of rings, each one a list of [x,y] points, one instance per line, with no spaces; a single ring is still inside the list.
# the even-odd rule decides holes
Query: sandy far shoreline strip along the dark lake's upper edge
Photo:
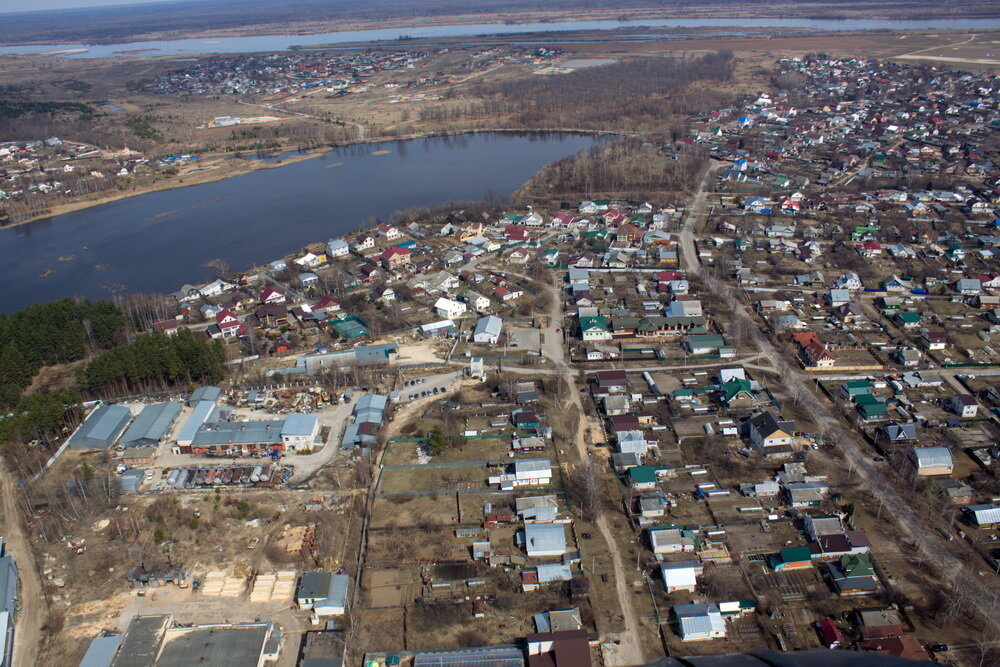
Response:
[[[196,185],[205,185],[207,183],[215,183],[218,181],[225,180],[227,178],[233,178],[237,176],[245,176],[247,174],[253,173],[255,171],[260,171],[262,169],[275,169],[277,167],[283,167],[288,164],[294,164],[296,162],[302,162],[304,160],[311,160],[321,155],[326,155],[337,148],[347,148],[349,146],[362,146],[365,144],[384,144],[393,143],[397,141],[414,141],[416,139],[434,139],[441,137],[455,137],[464,134],[480,134],[480,133],[517,133],[517,134],[591,134],[591,135],[605,135],[605,136],[635,136],[634,134],[623,133],[623,132],[613,132],[609,130],[574,130],[567,128],[553,128],[553,129],[540,129],[540,130],[527,130],[527,129],[517,129],[517,128],[477,128],[469,130],[457,130],[452,132],[422,132],[417,134],[408,134],[400,137],[372,137],[365,139],[355,139],[352,141],[340,142],[337,144],[328,144],[325,146],[320,146],[318,148],[309,149],[305,153],[300,155],[289,155],[287,158],[282,158],[280,162],[268,162],[265,160],[252,159],[247,161],[245,164],[241,165],[236,169],[225,170],[217,169],[213,172],[189,172],[187,175],[178,174],[177,176],[164,177],[161,180],[155,181],[148,184],[147,186],[141,188],[135,188],[133,190],[126,190],[124,192],[118,191],[113,194],[107,194],[106,196],[98,197],[95,199],[88,199],[76,202],[66,202],[63,204],[57,204],[49,209],[46,213],[41,213],[39,215],[26,218],[24,220],[19,220],[18,222],[13,222],[8,225],[0,226],[0,232],[8,229],[16,229],[24,225],[30,225],[34,222],[42,222],[44,220],[52,220],[63,215],[68,215],[70,213],[76,213],[78,211],[84,211],[89,208],[96,208],[98,206],[104,206],[105,204],[112,204],[116,201],[121,201],[123,199],[129,199],[131,197],[139,197],[141,195],[152,194],[154,192],[165,192],[167,190],[176,190],[180,188],[193,187]],[[287,150],[293,150],[291,148]],[[282,153],[284,154],[284,153]],[[225,158],[228,159],[228,158]],[[209,168],[211,169],[211,167]],[[208,178],[197,178],[199,175],[208,174]],[[178,182],[180,179],[191,178],[191,182]]]

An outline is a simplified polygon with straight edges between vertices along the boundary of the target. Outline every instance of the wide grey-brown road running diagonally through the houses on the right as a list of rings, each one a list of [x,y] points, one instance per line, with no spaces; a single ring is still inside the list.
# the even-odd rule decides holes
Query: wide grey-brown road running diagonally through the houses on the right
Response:
[[[711,178],[713,178],[713,173],[709,171],[691,206],[688,207],[688,218],[681,232],[681,250],[684,265],[689,275],[702,274],[702,266],[694,244],[694,229],[704,218],[705,188]],[[734,315],[742,310],[745,316],[751,316],[747,311],[746,304],[737,298],[736,290],[730,285],[707,275],[704,282],[710,291],[721,298],[722,303],[728,303],[732,306]],[[751,335],[761,354],[774,360],[780,361],[782,359],[782,354],[771,345],[770,340],[759,328],[754,327]],[[942,581],[950,584],[951,594],[960,595],[970,601],[980,613],[995,624],[997,619],[995,588],[973,580],[974,577],[969,574],[967,554],[963,554],[966,556],[963,558],[957,556],[949,549],[948,543],[939,536],[938,532],[933,530],[933,526],[928,525],[927,521],[918,516],[900,496],[893,486],[893,480],[873,463],[870,452],[860,441],[854,429],[839,414],[834,413],[825,398],[815,394],[812,377],[805,376],[791,364],[779,363],[779,368],[787,388],[795,394],[811,397],[809,407],[820,432],[837,434],[837,440],[845,460],[853,462],[854,472],[858,475],[860,482],[868,487],[867,492],[870,494],[871,504],[883,507],[886,510],[886,515],[895,519],[905,534],[921,536],[925,551],[932,557],[928,559],[928,563],[933,562],[937,566]]]

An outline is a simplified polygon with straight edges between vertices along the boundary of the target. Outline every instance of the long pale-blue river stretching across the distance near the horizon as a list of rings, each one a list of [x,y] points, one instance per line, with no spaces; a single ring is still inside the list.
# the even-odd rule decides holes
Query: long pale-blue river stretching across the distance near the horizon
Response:
[[[855,30],[995,30],[1000,19],[638,19],[631,21],[555,21],[540,23],[478,23],[414,28],[380,28],[317,33],[315,35],[256,35],[218,39],[173,39],[122,44],[35,44],[0,46],[0,54],[57,53],[67,58],[108,58],[120,56],[189,55],[207,53],[257,53],[284,51],[291,47],[308,48],[326,44],[374,42],[412,38],[475,37],[479,35],[517,35],[538,32],[578,30],[614,30],[619,28],[780,28],[825,31]],[[724,36],[726,32],[713,33]],[[732,32],[732,34],[740,34]]]

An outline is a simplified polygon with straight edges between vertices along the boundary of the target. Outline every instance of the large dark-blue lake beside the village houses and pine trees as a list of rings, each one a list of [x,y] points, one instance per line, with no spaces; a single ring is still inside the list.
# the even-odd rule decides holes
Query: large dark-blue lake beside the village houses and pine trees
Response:
[[[211,279],[206,264],[214,259],[247,269],[366,226],[371,216],[481,200],[488,190],[509,194],[596,141],[481,133],[347,146],[3,229],[0,311],[73,295],[173,292]]]

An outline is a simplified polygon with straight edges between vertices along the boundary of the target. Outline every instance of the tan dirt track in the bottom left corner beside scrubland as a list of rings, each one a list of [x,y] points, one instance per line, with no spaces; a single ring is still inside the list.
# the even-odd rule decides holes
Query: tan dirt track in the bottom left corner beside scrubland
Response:
[[[35,559],[21,520],[14,479],[7,464],[0,460],[0,535],[9,555],[14,557],[19,578],[21,610],[15,616],[14,664],[28,667],[38,662],[42,645],[42,626],[48,614],[42,581],[35,568]]]

